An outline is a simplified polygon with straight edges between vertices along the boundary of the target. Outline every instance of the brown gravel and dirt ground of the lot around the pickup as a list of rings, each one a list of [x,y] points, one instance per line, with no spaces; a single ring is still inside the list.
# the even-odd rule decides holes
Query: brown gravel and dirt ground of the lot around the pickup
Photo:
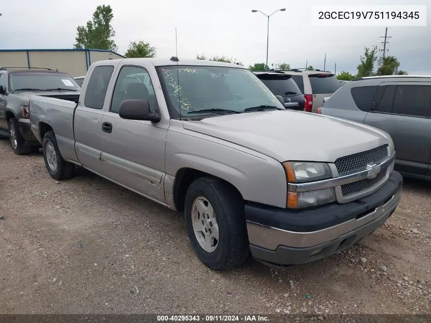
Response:
[[[56,182],[5,139],[0,201],[3,314],[431,313],[431,183],[405,180],[382,228],[289,270],[209,270],[181,214],[83,169]]]

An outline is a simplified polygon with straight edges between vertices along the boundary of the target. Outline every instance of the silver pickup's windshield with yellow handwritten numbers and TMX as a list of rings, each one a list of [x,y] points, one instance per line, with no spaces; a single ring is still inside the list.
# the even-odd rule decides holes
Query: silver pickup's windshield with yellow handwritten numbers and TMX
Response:
[[[274,94],[247,69],[184,65],[161,66],[158,69],[174,117],[179,117],[180,113],[181,116],[189,113],[189,116],[198,116],[266,111],[271,110],[270,107],[272,110],[285,109]],[[259,109],[260,106],[265,109]]]

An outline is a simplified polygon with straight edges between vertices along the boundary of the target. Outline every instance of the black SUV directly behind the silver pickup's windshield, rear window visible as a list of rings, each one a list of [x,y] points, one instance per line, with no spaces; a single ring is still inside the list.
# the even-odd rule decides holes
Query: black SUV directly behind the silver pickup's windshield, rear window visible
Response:
[[[304,111],[305,98],[289,74],[278,71],[252,71],[274,94],[284,98],[288,109]]]

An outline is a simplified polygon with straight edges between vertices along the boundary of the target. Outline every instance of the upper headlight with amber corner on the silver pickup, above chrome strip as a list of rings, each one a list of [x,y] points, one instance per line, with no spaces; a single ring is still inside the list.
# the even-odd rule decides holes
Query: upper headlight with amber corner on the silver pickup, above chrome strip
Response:
[[[332,177],[331,169],[325,163],[285,162],[283,166],[286,169],[287,179],[291,183],[316,181]]]

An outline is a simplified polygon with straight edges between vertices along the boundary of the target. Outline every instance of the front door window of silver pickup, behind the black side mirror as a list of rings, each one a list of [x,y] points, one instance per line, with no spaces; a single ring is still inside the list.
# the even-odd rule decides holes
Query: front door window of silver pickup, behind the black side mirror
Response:
[[[146,69],[137,66],[123,66],[118,73],[111,101],[111,112],[118,113],[124,100],[145,100],[150,110],[154,109],[153,84]]]

